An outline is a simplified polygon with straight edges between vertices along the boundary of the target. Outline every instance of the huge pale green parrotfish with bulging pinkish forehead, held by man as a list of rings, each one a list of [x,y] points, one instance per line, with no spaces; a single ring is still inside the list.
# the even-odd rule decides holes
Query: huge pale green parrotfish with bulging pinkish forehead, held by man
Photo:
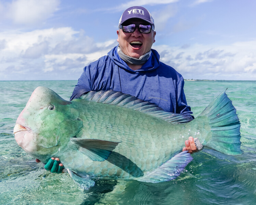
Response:
[[[189,136],[227,155],[242,153],[240,122],[225,91],[191,121],[113,90],[66,101],[38,87],[14,134],[18,145],[43,163],[58,157],[75,180],[175,179],[192,160],[187,151],[180,152]]]

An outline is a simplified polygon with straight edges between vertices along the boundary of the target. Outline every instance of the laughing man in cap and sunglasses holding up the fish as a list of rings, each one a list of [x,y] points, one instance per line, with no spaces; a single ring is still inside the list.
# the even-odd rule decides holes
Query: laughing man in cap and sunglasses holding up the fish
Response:
[[[151,49],[156,32],[150,12],[132,6],[124,11],[118,27],[119,45],[84,68],[70,100],[90,90],[114,90],[194,119],[183,91],[183,77],[159,61],[159,54]],[[185,142],[184,150],[197,151],[193,137]]]

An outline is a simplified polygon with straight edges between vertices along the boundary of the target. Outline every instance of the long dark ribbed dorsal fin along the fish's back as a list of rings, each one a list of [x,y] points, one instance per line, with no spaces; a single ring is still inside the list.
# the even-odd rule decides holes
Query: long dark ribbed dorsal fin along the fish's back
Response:
[[[124,94],[113,90],[101,90],[98,92],[90,91],[87,94],[81,96],[80,98],[89,101],[101,102],[104,104],[111,104],[119,107],[133,109],[163,119],[172,124],[185,123],[192,120],[192,118],[187,115],[165,112],[162,108],[158,107],[155,104],[137,99],[130,94]]]

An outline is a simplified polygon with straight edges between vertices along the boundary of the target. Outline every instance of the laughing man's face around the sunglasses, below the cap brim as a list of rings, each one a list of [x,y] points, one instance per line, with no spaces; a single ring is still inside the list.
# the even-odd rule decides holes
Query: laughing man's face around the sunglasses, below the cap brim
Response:
[[[141,19],[130,19],[125,22],[125,25],[129,24],[147,24],[146,21]],[[155,42],[155,31],[150,33],[140,33],[139,29],[133,33],[125,33],[122,29],[117,30],[117,42],[119,43],[122,52],[130,57],[139,58],[140,56],[148,53]],[[135,43],[136,42],[136,43]]]

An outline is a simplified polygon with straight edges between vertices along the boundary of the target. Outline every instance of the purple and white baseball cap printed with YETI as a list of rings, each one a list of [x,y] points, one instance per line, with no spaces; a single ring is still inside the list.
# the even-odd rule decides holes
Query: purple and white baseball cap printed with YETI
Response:
[[[140,18],[155,26],[151,13],[142,6],[132,6],[126,9],[119,19],[118,27],[130,18]]]

